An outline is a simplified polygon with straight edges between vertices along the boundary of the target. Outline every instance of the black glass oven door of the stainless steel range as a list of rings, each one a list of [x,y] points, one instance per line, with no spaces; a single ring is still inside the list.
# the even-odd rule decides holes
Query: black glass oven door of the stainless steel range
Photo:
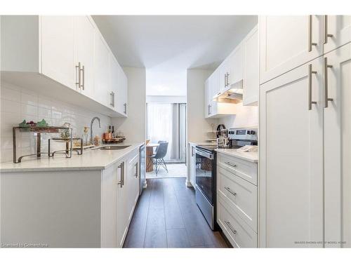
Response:
[[[214,155],[202,149],[196,149],[196,184],[207,200],[213,205]]]

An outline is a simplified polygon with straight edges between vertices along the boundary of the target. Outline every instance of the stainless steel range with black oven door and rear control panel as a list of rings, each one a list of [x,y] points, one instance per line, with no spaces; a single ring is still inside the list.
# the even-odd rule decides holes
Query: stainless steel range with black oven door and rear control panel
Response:
[[[257,128],[230,128],[229,144],[225,148],[237,149],[257,145]],[[216,229],[216,170],[218,146],[197,145],[195,164],[195,198],[199,209],[212,230]]]

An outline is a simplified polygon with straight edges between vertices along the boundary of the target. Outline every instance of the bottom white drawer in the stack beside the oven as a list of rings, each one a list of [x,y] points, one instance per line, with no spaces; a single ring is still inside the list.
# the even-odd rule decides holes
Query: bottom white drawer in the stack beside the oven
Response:
[[[238,215],[231,214],[218,198],[217,222],[234,248],[257,248],[257,234]]]

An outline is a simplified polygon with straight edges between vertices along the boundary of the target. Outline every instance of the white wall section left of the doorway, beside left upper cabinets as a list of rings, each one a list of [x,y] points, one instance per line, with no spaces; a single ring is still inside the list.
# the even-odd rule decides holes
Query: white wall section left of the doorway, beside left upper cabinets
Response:
[[[112,118],[114,130],[126,136],[126,142],[144,142],[146,137],[145,68],[124,67],[128,78],[128,118]]]

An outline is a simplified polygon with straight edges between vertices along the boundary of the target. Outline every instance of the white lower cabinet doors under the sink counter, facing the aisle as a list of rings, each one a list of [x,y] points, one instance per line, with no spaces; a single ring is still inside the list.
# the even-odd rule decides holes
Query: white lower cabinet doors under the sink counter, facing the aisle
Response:
[[[101,246],[122,248],[139,197],[138,149],[102,172]]]

